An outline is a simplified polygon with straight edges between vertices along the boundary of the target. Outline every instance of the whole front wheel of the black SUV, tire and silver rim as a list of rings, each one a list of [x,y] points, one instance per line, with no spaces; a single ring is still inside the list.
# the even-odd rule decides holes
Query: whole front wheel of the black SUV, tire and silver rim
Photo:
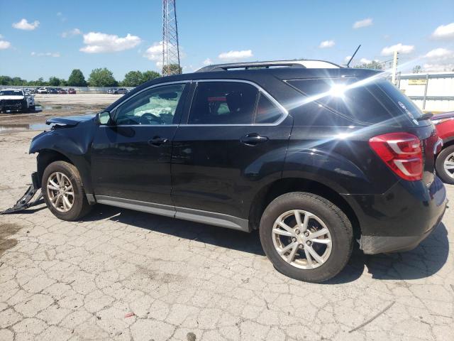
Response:
[[[41,187],[50,212],[61,220],[79,220],[90,211],[79,171],[71,163],[50,163],[44,170]]]

